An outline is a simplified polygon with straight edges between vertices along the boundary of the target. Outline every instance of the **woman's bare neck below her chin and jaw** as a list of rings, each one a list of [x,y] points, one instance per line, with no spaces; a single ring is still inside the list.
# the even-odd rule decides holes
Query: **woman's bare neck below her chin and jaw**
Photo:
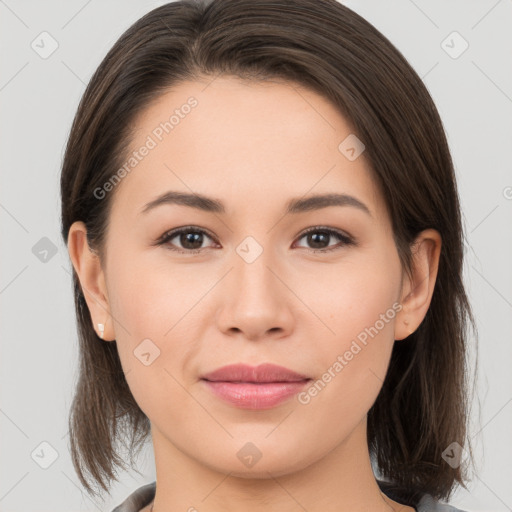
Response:
[[[152,428],[152,435],[157,490],[148,511],[414,512],[380,491],[368,453],[366,418],[342,443],[308,465],[293,467],[262,456],[245,471],[237,458],[207,466],[157,429]],[[238,452],[238,443],[233,445],[233,453]]]

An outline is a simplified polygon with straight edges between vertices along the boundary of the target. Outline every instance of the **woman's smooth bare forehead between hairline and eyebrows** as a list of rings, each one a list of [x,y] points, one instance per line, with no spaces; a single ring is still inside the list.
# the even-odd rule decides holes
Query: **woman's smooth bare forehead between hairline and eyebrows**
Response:
[[[263,208],[339,192],[360,198],[377,218],[382,214],[364,153],[351,161],[339,149],[353,136],[350,124],[323,96],[298,84],[235,77],[181,82],[154,100],[134,127],[127,161],[139,155],[117,185],[116,208],[140,209],[166,190],[224,198],[228,212],[247,200]]]

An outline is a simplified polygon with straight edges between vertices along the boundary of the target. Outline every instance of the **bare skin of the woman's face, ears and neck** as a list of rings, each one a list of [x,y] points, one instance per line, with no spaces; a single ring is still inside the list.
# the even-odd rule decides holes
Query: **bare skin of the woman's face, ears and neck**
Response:
[[[190,96],[197,107],[110,192],[105,261],[85,243],[82,222],[68,243],[94,328],[104,323],[103,342],[117,341],[151,421],[153,510],[412,512],[377,486],[366,419],[393,344],[428,310],[439,233],[418,236],[409,279],[364,153],[350,161],[338,150],[350,125],[296,84],[225,76],[182,83],[139,116],[132,149]],[[168,190],[218,198],[226,213],[171,204],[139,213]],[[371,215],[352,206],[284,215],[291,198],[333,191],[355,196]],[[154,245],[188,225],[215,237],[203,235],[201,253],[173,252],[193,248],[180,236]],[[357,245],[335,236],[314,245],[303,232],[315,226]],[[236,251],[247,236],[263,249],[250,264]],[[338,248],[313,252],[327,246]],[[394,303],[401,311],[306,405],[293,397],[272,409],[240,409],[200,381],[238,362],[272,362],[317,380]],[[146,338],[160,350],[148,366],[133,354]],[[248,442],[262,454],[252,467],[237,457]]]

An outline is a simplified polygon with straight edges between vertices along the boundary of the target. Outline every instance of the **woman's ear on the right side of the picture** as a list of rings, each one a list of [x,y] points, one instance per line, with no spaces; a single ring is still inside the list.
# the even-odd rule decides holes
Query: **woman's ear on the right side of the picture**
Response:
[[[422,231],[412,244],[412,277],[404,275],[402,309],[396,316],[395,340],[412,334],[427,314],[434,293],[441,244],[441,235],[435,229]]]

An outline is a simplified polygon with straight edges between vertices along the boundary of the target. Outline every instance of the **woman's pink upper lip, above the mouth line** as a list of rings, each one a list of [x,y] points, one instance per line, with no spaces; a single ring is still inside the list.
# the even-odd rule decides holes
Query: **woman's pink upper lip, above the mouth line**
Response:
[[[309,380],[309,377],[271,363],[249,366],[246,364],[230,364],[203,375],[209,381],[231,382],[298,382]]]

